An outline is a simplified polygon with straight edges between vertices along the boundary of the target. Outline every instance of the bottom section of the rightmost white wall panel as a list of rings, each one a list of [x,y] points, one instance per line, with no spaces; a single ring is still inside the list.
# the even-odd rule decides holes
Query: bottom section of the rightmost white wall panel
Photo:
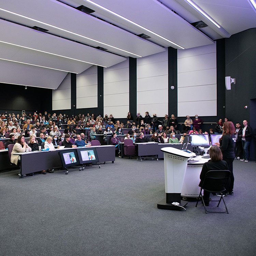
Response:
[[[217,100],[178,102],[178,113],[184,117],[184,121],[186,115],[216,116],[216,105]]]

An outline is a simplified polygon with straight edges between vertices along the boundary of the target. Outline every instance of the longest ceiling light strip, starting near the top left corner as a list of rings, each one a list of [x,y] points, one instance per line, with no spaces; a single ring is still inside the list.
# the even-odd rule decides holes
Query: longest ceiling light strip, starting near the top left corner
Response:
[[[105,44],[105,43],[103,43],[103,42],[100,42],[100,41],[91,39],[91,38],[89,38],[89,37],[85,37],[84,35],[80,35],[80,34],[77,34],[77,33],[72,32],[72,31],[69,31],[69,30],[66,30],[66,29],[63,29],[63,28],[59,28],[59,27],[53,26],[53,25],[48,24],[48,23],[45,23],[45,22],[41,22],[40,20],[37,20],[37,19],[32,19],[32,18],[30,18],[30,17],[27,17],[27,16],[24,16],[24,15],[15,13],[15,12],[11,12],[11,11],[5,10],[5,9],[3,9],[3,8],[0,8],[0,10],[1,10],[1,11],[4,11],[4,12],[11,13],[11,14],[14,14],[14,15],[17,15],[17,16],[22,17],[22,18],[26,18],[26,19],[32,20],[32,21],[34,21],[34,22],[38,22],[38,23],[40,23],[40,24],[43,24],[43,25],[46,25],[46,26],[49,26],[49,27],[52,27],[52,28],[59,29],[59,30],[61,30],[61,31],[64,31],[64,32],[67,32],[67,33],[70,33],[70,34],[73,34],[73,35],[77,35],[78,37],[82,37],[82,38],[91,40],[91,41],[96,42],[96,43],[100,43],[100,44],[103,44],[103,45],[112,47],[112,48],[114,48],[114,49],[117,49],[117,50],[119,50],[119,51],[122,51],[122,52],[125,52],[125,53],[128,53],[128,54],[132,54],[132,55],[137,56],[137,57],[142,57],[142,56],[140,56],[140,55],[138,55],[138,54],[125,51],[125,50],[120,49],[120,48],[118,48],[118,47],[115,47],[115,46],[113,46],[113,45]]]

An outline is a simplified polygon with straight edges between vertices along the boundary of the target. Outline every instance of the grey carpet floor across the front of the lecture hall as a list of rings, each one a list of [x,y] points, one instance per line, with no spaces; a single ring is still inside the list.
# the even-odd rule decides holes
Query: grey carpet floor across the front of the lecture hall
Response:
[[[163,160],[116,158],[24,180],[17,173],[0,174],[0,255],[256,254],[255,162],[234,161],[229,214],[205,214],[195,202],[157,209]]]

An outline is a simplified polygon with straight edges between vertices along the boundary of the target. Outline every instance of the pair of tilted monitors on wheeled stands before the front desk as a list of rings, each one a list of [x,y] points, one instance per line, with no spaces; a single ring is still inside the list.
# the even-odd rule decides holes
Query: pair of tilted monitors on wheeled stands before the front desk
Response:
[[[66,170],[71,166],[84,166],[88,163],[99,161],[96,148],[70,148],[67,150],[60,150],[59,156],[62,166]]]

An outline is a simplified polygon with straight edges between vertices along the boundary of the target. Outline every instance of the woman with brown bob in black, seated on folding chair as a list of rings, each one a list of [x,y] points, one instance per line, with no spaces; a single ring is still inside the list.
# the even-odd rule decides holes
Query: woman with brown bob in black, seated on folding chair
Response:
[[[208,171],[212,170],[228,170],[228,164],[226,161],[222,160],[222,152],[218,146],[212,146],[209,151],[210,160],[203,164],[202,171],[200,173],[200,183],[199,187],[203,185],[203,180],[205,177],[205,174]],[[203,191],[203,200],[206,206],[209,205],[210,201],[210,192],[209,191]]]

